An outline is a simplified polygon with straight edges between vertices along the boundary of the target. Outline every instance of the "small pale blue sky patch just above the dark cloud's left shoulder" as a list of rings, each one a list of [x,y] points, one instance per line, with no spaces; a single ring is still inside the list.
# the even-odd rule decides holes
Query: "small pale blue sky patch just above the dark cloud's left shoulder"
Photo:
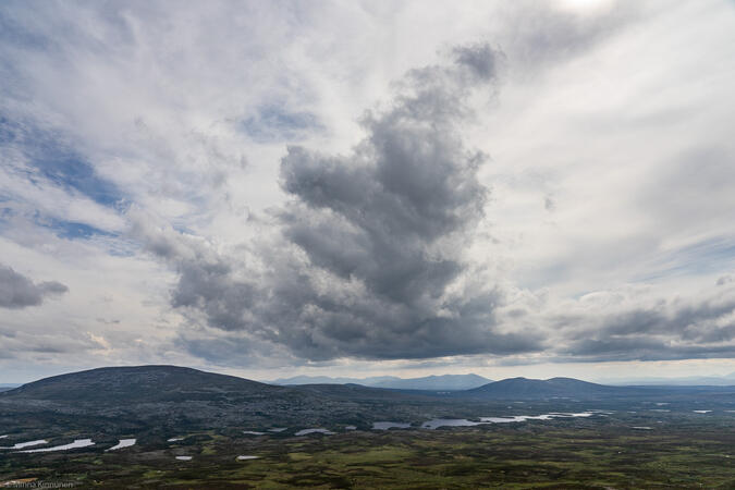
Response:
[[[241,122],[242,130],[255,142],[277,143],[304,139],[321,133],[324,126],[311,112],[289,111],[280,105],[265,105],[255,115]]]

